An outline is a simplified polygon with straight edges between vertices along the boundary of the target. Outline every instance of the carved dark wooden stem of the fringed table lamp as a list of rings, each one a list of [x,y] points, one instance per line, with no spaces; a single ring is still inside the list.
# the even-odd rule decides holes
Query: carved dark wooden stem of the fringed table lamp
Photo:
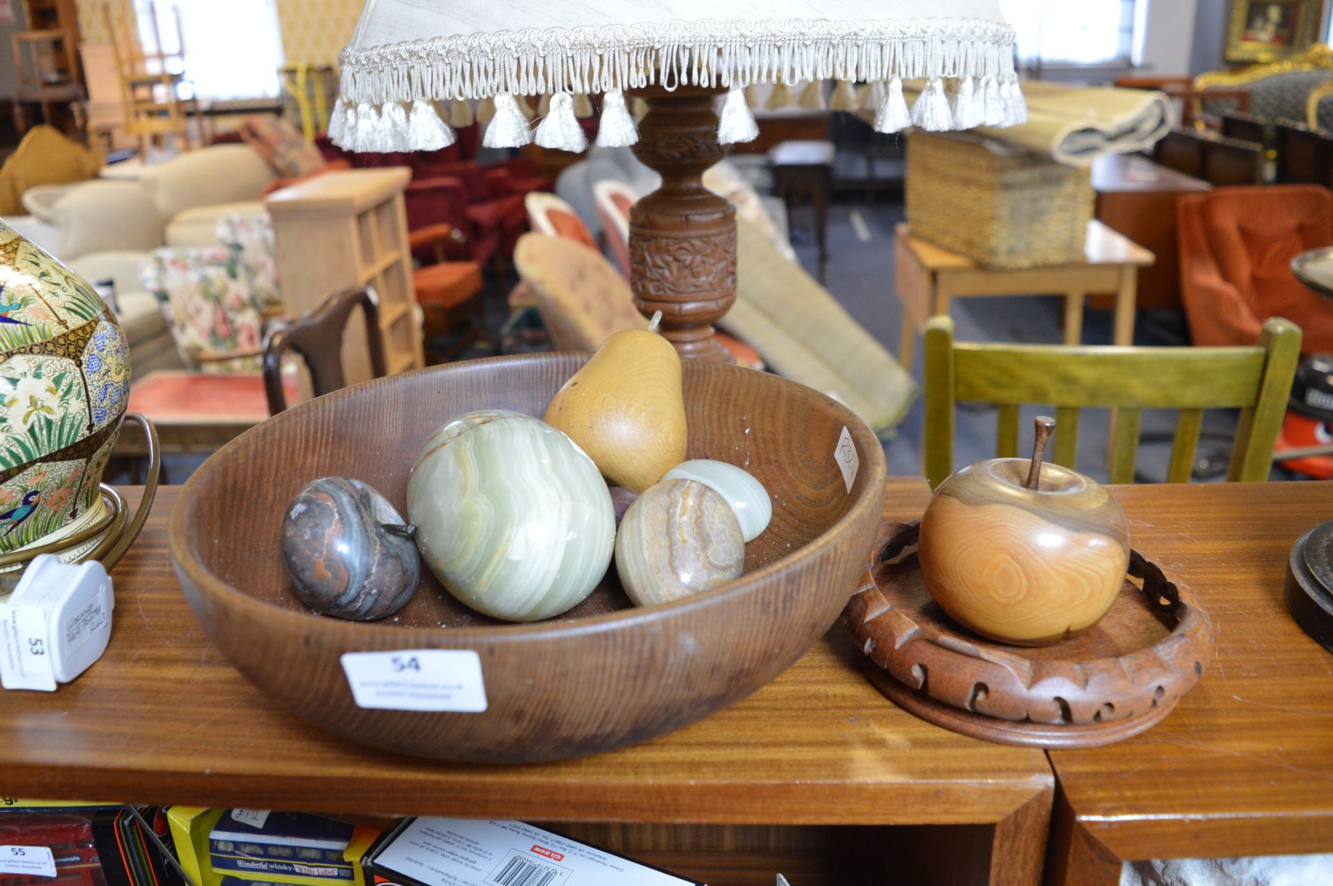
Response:
[[[721,87],[648,87],[635,156],[663,177],[629,211],[629,285],[635,305],[663,312],[663,334],[681,357],[732,362],[713,322],[736,301],[736,209],[704,187],[726,151],[717,143],[713,100]]]

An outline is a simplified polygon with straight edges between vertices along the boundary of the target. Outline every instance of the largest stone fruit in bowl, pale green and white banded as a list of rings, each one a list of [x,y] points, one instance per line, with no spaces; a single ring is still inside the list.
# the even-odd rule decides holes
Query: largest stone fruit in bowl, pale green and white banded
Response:
[[[537,621],[580,604],[611,565],[616,518],[592,458],[516,412],[472,412],[435,432],[408,481],[427,566],[477,612]]]

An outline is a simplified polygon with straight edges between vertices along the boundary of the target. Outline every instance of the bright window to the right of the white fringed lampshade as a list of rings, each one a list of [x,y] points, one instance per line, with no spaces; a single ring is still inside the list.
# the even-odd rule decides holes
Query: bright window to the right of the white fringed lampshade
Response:
[[[1018,64],[1128,65],[1136,0],[1000,0],[1018,32]]]

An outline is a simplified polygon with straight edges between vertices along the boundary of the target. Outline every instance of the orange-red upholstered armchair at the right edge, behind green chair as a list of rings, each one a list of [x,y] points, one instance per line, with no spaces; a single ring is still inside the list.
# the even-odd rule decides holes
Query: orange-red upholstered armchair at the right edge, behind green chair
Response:
[[[1248,345],[1269,317],[1301,326],[1304,353],[1333,352],[1333,302],[1292,258],[1333,245],[1333,192],[1314,185],[1220,188],[1177,207],[1181,294],[1196,345]]]

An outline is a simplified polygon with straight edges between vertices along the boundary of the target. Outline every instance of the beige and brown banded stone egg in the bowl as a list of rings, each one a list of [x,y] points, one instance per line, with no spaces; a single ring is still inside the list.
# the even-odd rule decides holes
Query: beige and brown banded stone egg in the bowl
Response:
[[[696,480],[663,480],[635,500],[616,534],[616,572],[636,606],[716,588],[741,574],[745,540],[726,500]]]

